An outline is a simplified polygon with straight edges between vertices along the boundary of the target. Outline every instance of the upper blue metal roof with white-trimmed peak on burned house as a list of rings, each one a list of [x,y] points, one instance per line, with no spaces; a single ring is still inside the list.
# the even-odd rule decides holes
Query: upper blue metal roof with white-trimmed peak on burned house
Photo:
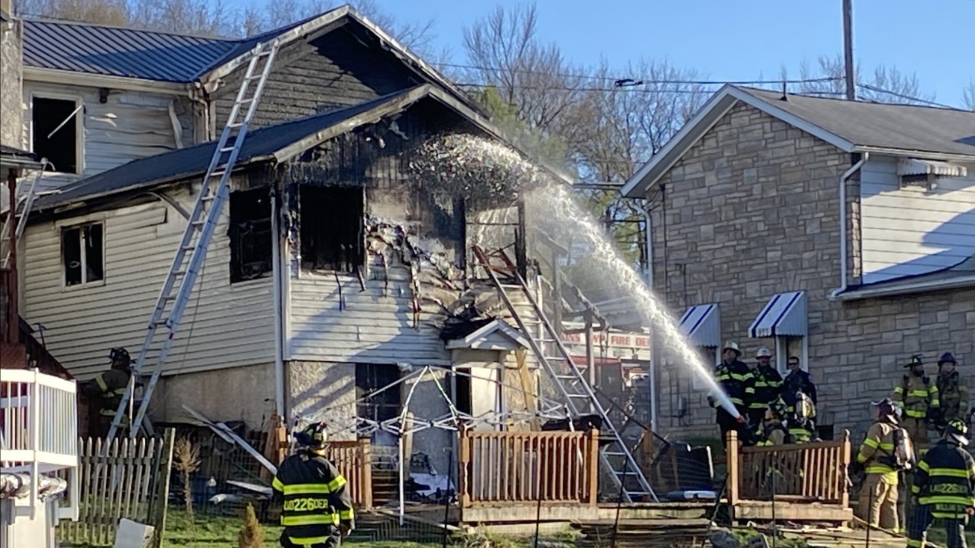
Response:
[[[260,42],[282,45],[311,34],[327,33],[345,22],[364,28],[383,49],[427,82],[435,83],[471,108],[484,113],[443,74],[409,51],[354,8],[344,5],[246,39],[192,36],[82,22],[25,20],[25,67],[65,70],[99,76],[134,78],[170,84],[214,85],[248,59]]]

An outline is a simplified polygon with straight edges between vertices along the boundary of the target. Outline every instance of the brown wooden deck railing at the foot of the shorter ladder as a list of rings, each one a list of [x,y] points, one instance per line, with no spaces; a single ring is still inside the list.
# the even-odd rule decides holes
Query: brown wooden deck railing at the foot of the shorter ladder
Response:
[[[599,432],[460,433],[460,502],[596,504]]]

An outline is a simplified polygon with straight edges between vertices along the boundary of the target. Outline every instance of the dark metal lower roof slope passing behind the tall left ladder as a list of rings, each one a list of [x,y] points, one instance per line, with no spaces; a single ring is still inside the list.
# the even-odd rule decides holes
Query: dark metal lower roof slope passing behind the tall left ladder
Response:
[[[417,92],[420,94],[417,95]],[[324,130],[333,128],[342,122],[351,121],[356,116],[365,114],[370,110],[396,103],[400,99],[408,99],[408,96],[410,96],[409,98],[425,97],[428,92],[429,86],[419,86],[356,106],[255,130],[244,141],[244,146],[237,159],[237,166],[274,159],[276,152],[304,138],[316,136]],[[357,125],[345,127],[345,131],[351,130]],[[49,210],[72,202],[203,175],[210,166],[215,146],[216,141],[210,141],[133,160],[96,176],[66,184],[61,187],[58,194],[38,198],[34,203],[34,209]]]

